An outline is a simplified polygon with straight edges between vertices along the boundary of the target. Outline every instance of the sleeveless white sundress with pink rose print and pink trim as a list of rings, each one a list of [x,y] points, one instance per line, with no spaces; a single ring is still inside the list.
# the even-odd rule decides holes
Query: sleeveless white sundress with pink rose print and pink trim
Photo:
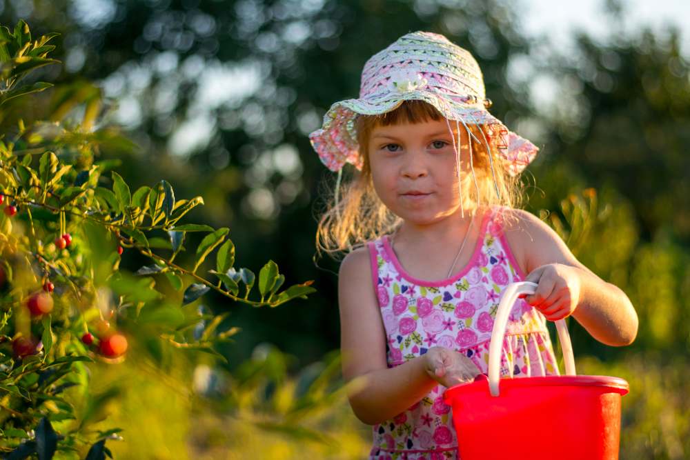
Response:
[[[455,276],[441,281],[411,277],[397,261],[388,237],[368,243],[373,283],[386,328],[388,368],[441,346],[469,357],[489,372],[493,319],[504,289],[524,274],[503,231],[505,208],[484,213],[473,256]],[[509,316],[501,357],[502,377],[558,374],[546,320],[519,299]],[[391,420],[373,426],[369,460],[455,460],[457,437],[444,386]]]

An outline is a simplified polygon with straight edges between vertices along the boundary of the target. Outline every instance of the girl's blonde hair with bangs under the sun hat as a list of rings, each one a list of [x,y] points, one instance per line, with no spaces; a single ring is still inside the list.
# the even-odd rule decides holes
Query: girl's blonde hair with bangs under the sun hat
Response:
[[[373,129],[377,126],[399,123],[415,124],[444,120],[436,108],[424,101],[403,101],[391,112],[357,116],[355,131],[359,154],[362,155],[362,170],[352,168],[342,181],[338,179],[339,183],[331,193],[326,210],[319,219],[316,234],[319,252],[328,252],[337,257],[393,232],[402,223],[402,219],[388,210],[374,191],[367,152],[369,136]],[[450,122],[449,126],[454,124],[456,123]],[[519,179],[511,177],[498,163],[500,133],[485,125],[469,125],[468,128],[471,132],[473,183],[467,188],[466,193],[477,205],[501,205],[509,208],[517,206],[520,196]],[[486,152],[487,143],[491,157],[489,152]]]

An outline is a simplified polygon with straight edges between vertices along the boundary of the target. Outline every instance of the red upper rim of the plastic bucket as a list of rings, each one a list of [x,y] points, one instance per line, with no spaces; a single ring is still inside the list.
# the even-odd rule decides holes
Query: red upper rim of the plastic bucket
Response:
[[[608,377],[605,375],[547,375],[545,377],[518,377],[515,379],[500,379],[500,389],[506,388],[529,388],[535,386],[575,386],[575,387],[591,387],[603,386],[611,389],[624,396],[630,390],[627,381],[619,377]],[[471,383],[461,383],[460,385],[452,386],[443,392],[443,400],[448,403],[452,397],[459,397],[462,394],[489,391],[489,381],[480,380]]]

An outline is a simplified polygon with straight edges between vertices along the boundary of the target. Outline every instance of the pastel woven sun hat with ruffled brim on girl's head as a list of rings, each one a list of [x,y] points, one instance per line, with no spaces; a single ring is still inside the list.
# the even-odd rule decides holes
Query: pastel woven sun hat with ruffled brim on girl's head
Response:
[[[482,71],[472,55],[446,37],[428,32],[406,34],[374,54],[364,65],[359,99],[333,104],[322,129],[309,135],[312,146],[332,171],[341,170],[345,163],[359,169],[362,157],[354,129],[357,114],[383,114],[409,100],[426,101],[447,120],[465,127],[490,126],[500,136],[497,162],[513,176],[537,153],[533,143],[510,132],[486,110],[491,101],[486,99]],[[477,141],[488,143],[486,139]]]

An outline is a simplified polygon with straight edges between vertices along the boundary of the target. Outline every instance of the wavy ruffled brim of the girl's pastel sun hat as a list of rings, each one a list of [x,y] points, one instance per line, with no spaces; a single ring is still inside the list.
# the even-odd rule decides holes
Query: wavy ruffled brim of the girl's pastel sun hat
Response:
[[[425,101],[446,119],[473,125],[499,125],[502,141],[499,159],[502,166],[515,176],[532,161],[538,148],[533,143],[509,132],[500,120],[493,117],[480,103],[467,103],[466,98],[451,94],[439,94],[429,90],[391,92],[370,99],[346,99],[339,101],[324,116],[321,129],[309,135],[311,144],[321,161],[331,171],[341,169],[345,163],[362,168],[354,121],[358,114],[380,115],[395,110],[403,101]]]

